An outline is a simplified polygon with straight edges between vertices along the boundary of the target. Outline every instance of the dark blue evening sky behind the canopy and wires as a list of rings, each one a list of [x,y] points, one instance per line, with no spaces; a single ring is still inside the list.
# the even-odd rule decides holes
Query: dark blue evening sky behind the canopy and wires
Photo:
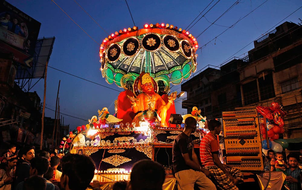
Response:
[[[133,21],[124,0],[76,1],[98,22],[106,33],[75,1],[54,0],[97,43],[72,22],[51,0],[7,1],[41,23],[39,38],[43,36],[56,37],[49,66],[119,91],[123,90],[115,84],[107,84],[104,78],[102,78],[101,71],[99,71],[101,65],[99,63],[98,51],[99,44],[108,34],[123,28],[133,27]],[[217,1],[218,0],[214,0],[203,14]],[[128,0],[127,2],[135,25],[138,28],[143,28],[144,24],[156,24],[158,22],[173,24],[178,28],[181,27],[185,29],[211,1]],[[210,25],[210,22],[214,22],[224,11],[230,8],[234,2],[236,1],[219,1],[189,32],[192,33],[193,36],[198,36]],[[215,24],[210,26],[197,38],[199,46],[201,47],[208,43],[226,30],[226,27],[232,26],[236,21],[246,16],[246,14],[263,2],[265,2],[265,0],[239,1],[237,5],[215,22],[215,24],[220,26]],[[199,49],[197,51],[199,55],[197,59],[197,71],[208,64],[220,65],[230,57],[243,57],[244,53],[247,55],[247,51],[253,48],[252,41],[259,38],[262,34],[265,34],[266,31],[301,6],[301,0],[268,0],[254,12],[239,21],[233,28],[230,28],[220,35],[216,39],[216,42],[213,40],[208,43],[203,47],[202,52]],[[298,23],[300,22],[298,18],[300,17],[302,19],[301,13],[302,8],[281,23],[285,21]],[[273,29],[274,28],[271,30]],[[249,46],[239,51],[249,43],[251,43]],[[237,51],[239,52],[236,53]],[[97,115],[98,109],[108,107],[110,113],[114,114],[114,100],[117,99],[119,92],[75,78],[52,68],[48,68],[47,71],[46,106],[48,108],[55,109],[59,80],[61,80],[59,97],[62,113],[82,119],[90,119],[92,116]],[[171,86],[172,91],[180,91],[180,85]],[[37,91],[41,100],[43,100],[43,80],[35,85],[32,91],[34,90]],[[175,105],[177,113],[186,113],[185,109],[181,109],[181,101],[178,101]],[[45,116],[54,118],[54,115],[53,111],[45,109]],[[87,123],[87,121],[85,122],[80,119],[64,116],[64,124],[70,124],[71,129]]]

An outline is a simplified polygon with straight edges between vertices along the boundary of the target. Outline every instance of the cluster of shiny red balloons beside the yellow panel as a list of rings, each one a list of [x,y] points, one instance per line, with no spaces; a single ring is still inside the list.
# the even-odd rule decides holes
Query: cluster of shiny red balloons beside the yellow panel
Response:
[[[279,139],[279,134],[284,133],[283,117],[286,112],[283,110],[282,105],[277,102],[272,102],[271,106],[257,106],[257,111],[265,118],[267,135],[271,141]]]

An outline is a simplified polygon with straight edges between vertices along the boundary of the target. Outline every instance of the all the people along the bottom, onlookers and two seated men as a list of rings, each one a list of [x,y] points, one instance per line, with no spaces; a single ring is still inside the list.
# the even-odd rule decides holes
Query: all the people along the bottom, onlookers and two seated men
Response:
[[[196,120],[188,117],[185,128],[173,142],[172,162],[178,189],[238,189],[243,173],[221,163],[219,142],[221,124],[217,120],[207,123],[209,133],[200,142],[200,157],[194,151],[191,134],[196,130]],[[287,156],[268,150],[266,171],[280,170],[286,175],[284,185],[291,190],[301,190],[302,157]],[[32,146],[16,151],[10,145],[1,157],[0,190],[101,190],[100,183],[93,181],[95,164],[83,154],[66,154],[38,150]],[[164,167],[152,160],[140,160],[133,165],[130,181],[115,182],[113,190],[160,190],[165,181]]]

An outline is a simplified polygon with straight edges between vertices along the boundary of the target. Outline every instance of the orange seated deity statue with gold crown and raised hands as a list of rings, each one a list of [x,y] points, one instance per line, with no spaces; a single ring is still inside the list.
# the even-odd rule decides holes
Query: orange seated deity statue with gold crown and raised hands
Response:
[[[172,93],[168,97],[168,103],[165,103],[162,97],[154,91],[153,84],[153,79],[149,73],[141,73],[139,76],[138,86],[140,87],[142,93],[140,93],[136,98],[130,96],[128,97],[130,99],[133,112],[137,113],[133,119],[133,122],[136,123],[136,126],[139,126],[139,122],[142,121],[141,116],[143,111],[147,109],[156,111],[158,115],[157,118],[160,120],[162,127],[167,126],[167,110],[173,104],[173,101],[176,98],[176,92]]]

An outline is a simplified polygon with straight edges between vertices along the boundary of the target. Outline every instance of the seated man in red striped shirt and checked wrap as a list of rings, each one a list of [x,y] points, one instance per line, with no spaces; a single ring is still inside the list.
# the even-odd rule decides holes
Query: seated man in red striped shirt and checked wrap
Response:
[[[220,134],[221,124],[212,119],[207,123],[210,132],[200,142],[201,164],[210,171],[220,189],[238,190],[236,184],[243,181],[243,173],[220,162],[218,157],[219,143],[216,135]]]

